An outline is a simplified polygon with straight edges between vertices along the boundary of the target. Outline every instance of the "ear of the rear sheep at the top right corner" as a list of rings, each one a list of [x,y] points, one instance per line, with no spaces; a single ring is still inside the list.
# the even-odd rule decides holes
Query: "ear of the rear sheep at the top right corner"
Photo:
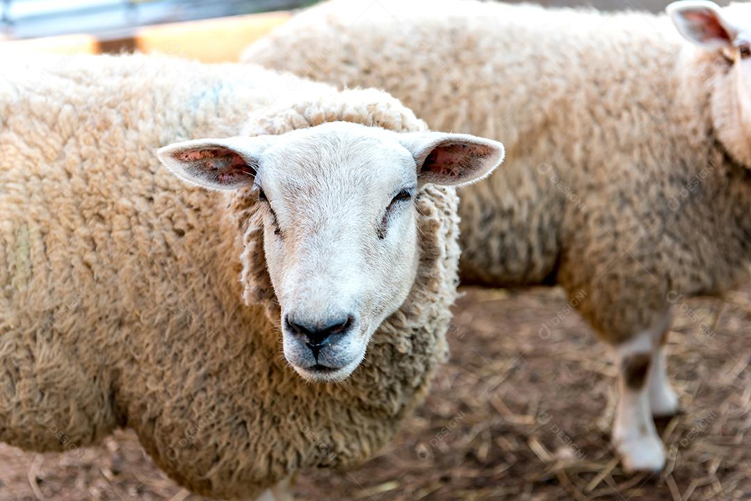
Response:
[[[674,1],[665,10],[678,32],[702,49],[725,49],[737,36],[737,31],[722,17],[720,7],[712,1]]]

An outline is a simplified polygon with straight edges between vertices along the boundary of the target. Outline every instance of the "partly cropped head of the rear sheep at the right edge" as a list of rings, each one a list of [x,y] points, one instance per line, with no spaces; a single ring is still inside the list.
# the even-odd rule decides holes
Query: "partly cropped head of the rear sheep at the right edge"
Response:
[[[686,0],[669,5],[668,14],[683,37],[716,59],[713,128],[728,152],[751,167],[751,5]]]

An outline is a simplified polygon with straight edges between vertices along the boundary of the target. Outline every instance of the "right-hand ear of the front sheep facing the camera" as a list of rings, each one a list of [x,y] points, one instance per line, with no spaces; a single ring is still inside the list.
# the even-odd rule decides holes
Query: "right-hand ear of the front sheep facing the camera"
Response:
[[[500,142],[469,134],[400,133],[418,167],[418,183],[461,185],[490,175],[503,161]]]

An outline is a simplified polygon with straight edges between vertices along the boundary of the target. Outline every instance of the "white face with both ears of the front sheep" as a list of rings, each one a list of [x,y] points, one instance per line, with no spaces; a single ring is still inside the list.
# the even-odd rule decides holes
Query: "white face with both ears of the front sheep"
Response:
[[[421,256],[421,187],[484,177],[502,155],[502,145],[474,136],[348,122],[159,151],[180,178],[255,192],[285,357],[312,381],[351,374],[408,296]]]

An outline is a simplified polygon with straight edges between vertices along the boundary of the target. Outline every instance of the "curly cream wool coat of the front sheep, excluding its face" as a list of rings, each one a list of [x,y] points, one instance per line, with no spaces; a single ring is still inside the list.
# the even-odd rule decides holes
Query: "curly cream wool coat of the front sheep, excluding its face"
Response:
[[[314,385],[283,361],[253,197],[187,187],[155,157],[243,123],[424,130],[397,100],[140,55],[14,62],[0,96],[0,440],[60,451],[127,426],[185,487],[253,498],[368,458],[424,397],[457,286],[453,189],[419,194],[418,276],[366,362]]]

